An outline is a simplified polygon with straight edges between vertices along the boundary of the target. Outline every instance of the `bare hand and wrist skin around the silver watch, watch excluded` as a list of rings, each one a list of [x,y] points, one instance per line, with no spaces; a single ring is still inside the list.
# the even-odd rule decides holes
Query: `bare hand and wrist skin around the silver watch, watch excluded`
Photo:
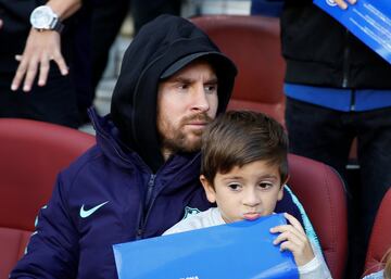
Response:
[[[81,0],[50,0],[47,2],[53,12],[63,21],[74,14],[80,7]],[[38,31],[31,28],[22,55],[16,55],[20,62],[12,80],[11,89],[17,90],[24,80],[23,91],[28,92],[38,74],[38,86],[45,86],[49,73],[49,63],[53,60],[62,75],[68,69],[61,53],[61,36],[55,30]]]

